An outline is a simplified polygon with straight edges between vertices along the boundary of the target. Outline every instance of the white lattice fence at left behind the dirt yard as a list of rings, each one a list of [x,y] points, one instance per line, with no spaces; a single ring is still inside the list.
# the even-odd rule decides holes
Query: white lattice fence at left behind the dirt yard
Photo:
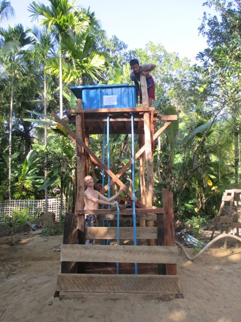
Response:
[[[14,210],[28,209],[32,215],[45,211],[45,199],[40,200],[4,200],[0,202],[0,222],[4,215],[11,215]],[[65,199],[63,199],[63,213],[66,212]],[[55,213],[56,219],[60,214],[60,198],[48,199],[48,211]]]

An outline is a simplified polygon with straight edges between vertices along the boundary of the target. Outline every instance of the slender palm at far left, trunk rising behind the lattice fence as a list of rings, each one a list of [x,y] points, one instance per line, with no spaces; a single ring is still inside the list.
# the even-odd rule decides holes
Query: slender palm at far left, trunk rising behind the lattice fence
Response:
[[[8,77],[11,84],[10,98],[10,117],[9,117],[9,172],[8,172],[8,189],[9,200],[11,200],[11,156],[12,156],[12,119],[13,119],[13,90],[15,73],[21,64],[21,49],[31,43],[31,38],[27,37],[22,24],[15,25],[8,30],[0,28],[1,44],[1,61],[0,67],[4,73],[4,78]],[[3,54],[4,53],[4,54]]]

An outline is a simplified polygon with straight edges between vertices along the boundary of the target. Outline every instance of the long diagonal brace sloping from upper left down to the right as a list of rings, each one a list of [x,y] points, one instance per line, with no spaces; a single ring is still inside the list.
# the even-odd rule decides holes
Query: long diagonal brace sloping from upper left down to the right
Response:
[[[76,140],[76,142],[85,149],[85,151],[92,156],[95,161],[98,163],[98,166],[100,167],[100,169],[104,169],[105,172],[110,175],[110,177],[112,178],[112,180],[119,185],[120,187],[123,187],[123,192],[125,194],[127,194],[130,198],[132,198],[132,193],[129,191],[129,189],[121,182],[121,180],[119,180],[119,178],[94,154],[94,152],[91,151],[91,149],[89,149],[85,143],[76,135],[76,133],[74,131],[72,131],[59,117],[56,113],[54,113],[53,111],[51,112],[51,115],[56,118],[59,122],[59,124],[62,125],[63,128],[65,128],[69,134]],[[78,116],[78,114],[76,115],[76,117]],[[138,207],[140,208],[145,208],[145,206],[138,200],[138,198],[135,199],[136,200],[136,204]],[[82,208],[79,207],[79,209],[83,209],[84,206]]]

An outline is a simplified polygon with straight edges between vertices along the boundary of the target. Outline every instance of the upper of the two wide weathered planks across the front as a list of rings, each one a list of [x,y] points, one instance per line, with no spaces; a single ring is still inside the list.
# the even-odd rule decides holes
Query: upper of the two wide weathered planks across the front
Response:
[[[177,247],[61,245],[61,261],[176,264]]]

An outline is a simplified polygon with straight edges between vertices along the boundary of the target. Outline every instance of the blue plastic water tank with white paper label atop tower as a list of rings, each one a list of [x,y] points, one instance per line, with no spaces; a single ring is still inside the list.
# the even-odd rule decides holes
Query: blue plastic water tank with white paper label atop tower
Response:
[[[83,109],[135,108],[136,87],[129,84],[70,87],[82,99]]]

